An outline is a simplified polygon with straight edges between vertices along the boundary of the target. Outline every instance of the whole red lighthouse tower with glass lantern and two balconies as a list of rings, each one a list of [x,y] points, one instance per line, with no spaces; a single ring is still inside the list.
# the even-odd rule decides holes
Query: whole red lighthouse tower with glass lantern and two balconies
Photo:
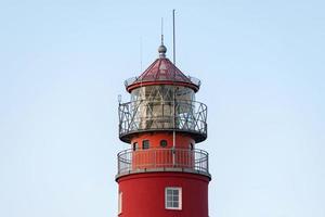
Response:
[[[207,106],[195,101],[200,81],[159,58],[126,80],[130,102],[119,104],[119,217],[208,217]]]

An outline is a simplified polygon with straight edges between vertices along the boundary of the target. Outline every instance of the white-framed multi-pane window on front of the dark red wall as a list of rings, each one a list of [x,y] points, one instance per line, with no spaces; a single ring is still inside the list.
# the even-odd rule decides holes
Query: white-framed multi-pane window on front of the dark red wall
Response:
[[[165,208],[182,209],[182,188],[167,187],[165,189]]]

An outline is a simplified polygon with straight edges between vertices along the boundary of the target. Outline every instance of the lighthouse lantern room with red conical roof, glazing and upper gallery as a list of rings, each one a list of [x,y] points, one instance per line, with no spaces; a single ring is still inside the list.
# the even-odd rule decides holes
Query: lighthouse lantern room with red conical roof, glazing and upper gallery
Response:
[[[183,131],[193,133],[196,142],[207,137],[207,107],[195,101],[197,78],[185,76],[166,58],[160,46],[159,58],[139,77],[126,80],[130,102],[119,105],[120,139],[130,142],[140,131]]]

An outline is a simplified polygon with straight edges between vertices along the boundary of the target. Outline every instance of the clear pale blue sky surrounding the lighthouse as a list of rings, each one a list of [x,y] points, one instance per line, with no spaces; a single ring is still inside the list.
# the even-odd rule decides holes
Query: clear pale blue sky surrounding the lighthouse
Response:
[[[116,216],[117,95],[161,17],[171,58],[172,9],[209,107],[210,216],[325,216],[322,0],[0,0],[0,216]]]

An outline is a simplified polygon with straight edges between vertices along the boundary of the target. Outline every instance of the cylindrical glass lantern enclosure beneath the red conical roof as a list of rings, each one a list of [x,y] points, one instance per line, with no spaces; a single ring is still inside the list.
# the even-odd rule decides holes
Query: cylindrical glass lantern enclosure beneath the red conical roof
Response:
[[[195,128],[194,100],[195,92],[187,87],[160,85],[136,88],[131,92],[133,126],[138,129],[192,130]]]

